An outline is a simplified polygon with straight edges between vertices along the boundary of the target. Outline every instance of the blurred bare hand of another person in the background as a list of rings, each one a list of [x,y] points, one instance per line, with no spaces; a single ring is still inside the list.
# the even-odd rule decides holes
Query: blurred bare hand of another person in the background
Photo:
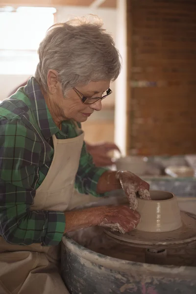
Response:
[[[108,152],[113,150],[119,150],[114,143],[98,143],[90,145],[86,143],[87,151],[93,156],[94,164],[97,167],[106,167],[113,164],[112,158],[108,155]]]

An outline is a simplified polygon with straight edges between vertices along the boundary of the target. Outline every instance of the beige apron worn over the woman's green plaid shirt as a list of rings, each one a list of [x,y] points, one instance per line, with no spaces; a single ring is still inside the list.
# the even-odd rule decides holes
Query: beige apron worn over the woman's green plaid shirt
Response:
[[[36,190],[32,210],[69,209],[84,137],[77,131],[78,136],[71,139],[52,136],[53,160]],[[72,208],[77,200],[73,202]],[[69,294],[59,274],[59,253],[60,245],[12,245],[0,237],[0,294]]]

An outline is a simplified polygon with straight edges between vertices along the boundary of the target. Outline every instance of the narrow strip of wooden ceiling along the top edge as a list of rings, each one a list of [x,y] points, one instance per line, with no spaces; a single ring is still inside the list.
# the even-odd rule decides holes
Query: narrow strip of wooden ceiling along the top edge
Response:
[[[0,6],[56,6],[56,5],[71,5],[71,6],[91,6],[95,4],[101,8],[116,8],[117,0],[100,1],[97,0],[0,0]]]

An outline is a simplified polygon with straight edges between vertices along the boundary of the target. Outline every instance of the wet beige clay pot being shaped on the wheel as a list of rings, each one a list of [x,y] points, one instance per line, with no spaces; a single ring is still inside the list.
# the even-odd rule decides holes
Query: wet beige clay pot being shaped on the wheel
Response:
[[[170,232],[182,226],[177,198],[170,192],[150,191],[152,200],[138,198],[141,221],[137,230]]]

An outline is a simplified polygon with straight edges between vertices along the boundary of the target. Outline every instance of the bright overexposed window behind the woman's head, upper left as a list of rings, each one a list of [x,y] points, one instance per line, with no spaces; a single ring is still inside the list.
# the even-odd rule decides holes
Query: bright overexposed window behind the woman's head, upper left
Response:
[[[54,23],[52,7],[0,9],[0,74],[33,74],[37,49]]]

